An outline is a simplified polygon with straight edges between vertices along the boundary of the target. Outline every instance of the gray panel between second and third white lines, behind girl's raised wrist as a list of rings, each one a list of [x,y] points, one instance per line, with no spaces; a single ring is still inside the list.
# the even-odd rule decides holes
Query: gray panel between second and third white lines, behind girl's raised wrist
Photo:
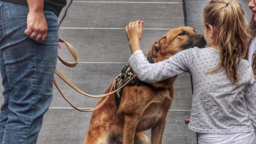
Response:
[[[144,53],[169,30],[144,30],[141,47]],[[60,37],[71,42],[80,62],[125,62],[131,55],[124,29],[60,29]],[[65,45],[59,50],[66,61],[73,61]]]

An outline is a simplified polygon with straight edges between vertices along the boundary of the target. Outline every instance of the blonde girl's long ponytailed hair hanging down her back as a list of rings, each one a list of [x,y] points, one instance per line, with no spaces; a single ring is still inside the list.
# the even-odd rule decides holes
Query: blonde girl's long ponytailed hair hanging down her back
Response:
[[[241,4],[234,0],[211,0],[204,8],[204,23],[214,27],[214,45],[220,47],[221,61],[211,72],[226,69],[233,84],[239,84],[237,74],[241,58],[246,55],[250,34]]]

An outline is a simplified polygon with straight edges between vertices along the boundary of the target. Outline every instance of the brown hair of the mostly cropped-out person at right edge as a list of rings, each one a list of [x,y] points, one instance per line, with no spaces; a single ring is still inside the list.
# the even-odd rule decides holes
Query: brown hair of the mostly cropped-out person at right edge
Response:
[[[254,20],[254,15],[250,19],[249,27],[250,27],[250,34],[251,34],[251,39],[249,42],[249,45],[250,45],[253,38],[256,37],[256,22]],[[247,55],[248,55],[248,52],[247,52]],[[246,58],[248,58],[248,56],[246,56]],[[253,67],[253,73],[254,73],[254,75],[256,75],[256,51],[254,52],[253,57],[252,57],[252,67]]]

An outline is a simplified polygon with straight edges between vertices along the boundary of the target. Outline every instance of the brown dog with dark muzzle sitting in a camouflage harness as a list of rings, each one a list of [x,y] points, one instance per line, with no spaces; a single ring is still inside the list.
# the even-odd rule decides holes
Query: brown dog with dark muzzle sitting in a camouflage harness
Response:
[[[150,48],[150,55],[157,63],[184,49],[202,48],[205,44],[202,34],[181,26],[159,38]],[[147,144],[147,129],[151,129],[151,143],[161,144],[176,77],[151,83],[151,87],[125,86],[119,107],[111,95],[104,106],[93,112],[84,144]],[[111,86],[106,93],[110,89]]]

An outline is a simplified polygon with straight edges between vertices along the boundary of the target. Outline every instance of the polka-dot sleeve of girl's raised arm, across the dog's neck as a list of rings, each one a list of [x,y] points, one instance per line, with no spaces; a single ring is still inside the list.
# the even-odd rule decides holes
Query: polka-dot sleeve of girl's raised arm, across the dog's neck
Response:
[[[191,63],[191,50],[181,51],[169,59],[158,63],[149,63],[141,50],[135,51],[128,60],[138,79],[154,83],[178,74],[188,72]]]

